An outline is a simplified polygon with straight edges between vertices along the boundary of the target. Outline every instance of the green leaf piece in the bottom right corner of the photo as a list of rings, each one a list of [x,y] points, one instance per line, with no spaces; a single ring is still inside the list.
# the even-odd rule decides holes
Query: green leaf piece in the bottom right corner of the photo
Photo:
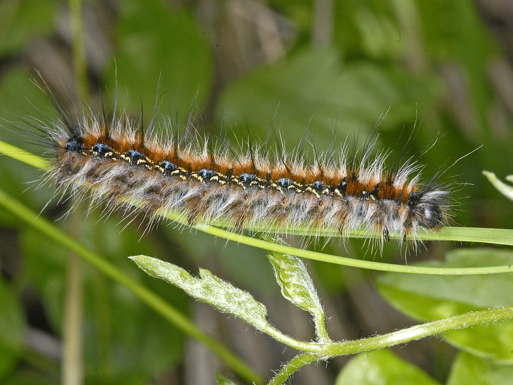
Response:
[[[452,364],[447,385],[509,385],[513,379],[513,365],[498,364],[460,352]]]

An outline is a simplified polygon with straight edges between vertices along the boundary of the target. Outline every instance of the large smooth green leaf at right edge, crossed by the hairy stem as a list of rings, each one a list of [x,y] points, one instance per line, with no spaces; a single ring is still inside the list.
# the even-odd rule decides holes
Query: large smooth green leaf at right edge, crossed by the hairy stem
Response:
[[[485,266],[513,264],[513,252],[496,249],[459,249],[445,262],[429,266]],[[477,276],[420,276],[388,273],[378,279],[381,294],[410,317],[426,321],[513,304],[513,274]],[[444,340],[472,354],[513,362],[513,321],[477,325],[448,332]]]

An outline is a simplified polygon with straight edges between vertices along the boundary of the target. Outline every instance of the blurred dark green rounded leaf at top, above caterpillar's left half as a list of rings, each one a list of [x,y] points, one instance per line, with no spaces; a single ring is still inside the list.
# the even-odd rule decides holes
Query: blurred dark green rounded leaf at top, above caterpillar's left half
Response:
[[[166,115],[176,112],[186,118],[193,100],[201,106],[207,99],[213,82],[212,55],[186,7],[158,0],[121,2],[115,33],[120,106],[128,108],[130,95],[132,105],[144,103],[149,121],[159,76]],[[106,84],[112,87],[114,82],[112,65]]]

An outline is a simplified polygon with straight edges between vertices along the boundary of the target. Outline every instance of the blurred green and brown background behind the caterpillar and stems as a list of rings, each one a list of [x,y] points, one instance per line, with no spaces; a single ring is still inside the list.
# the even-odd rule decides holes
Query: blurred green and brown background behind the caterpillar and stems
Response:
[[[114,59],[119,106],[150,117],[161,75],[161,113],[181,125],[194,106],[204,129],[233,128],[232,137],[265,137],[273,115],[286,146],[296,147],[309,124],[309,140],[327,148],[337,138],[366,137],[380,124],[379,147],[395,147],[401,130],[418,127],[417,149],[437,135],[421,159],[429,176],[481,144],[448,172],[463,226],[511,228],[512,203],[481,175],[513,172],[513,6],[485,0],[127,0],[83,5],[91,108],[112,105]],[[67,3],[0,3],[0,118],[19,122],[50,103],[31,82],[35,70],[69,104],[76,98]],[[279,108],[277,110],[277,107]],[[165,121],[165,118],[163,118]],[[5,121],[4,121],[5,122]],[[5,124],[5,123],[3,123]],[[2,130],[2,139],[30,147]],[[403,136],[404,140],[404,136]],[[400,143],[404,143],[401,142]],[[415,148],[413,149],[415,150]],[[310,151],[311,152],[311,151]],[[41,172],[0,157],[0,185],[40,212],[52,186],[30,183]],[[67,205],[51,201],[44,217],[65,230]],[[264,302],[270,319],[297,338],[314,337],[309,318],[280,296],[263,251],[225,244],[163,223],[141,236],[141,221],[123,229],[121,216],[80,216],[81,239],[130,276],[187,313],[269,377],[294,356],[282,345],[181,291],[147,277],[127,259],[146,254],[197,272],[210,269]],[[143,224],[144,226],[144,224]],[[299,240],[289,239],[293,244]],[[407,262],[442,260],[461,244],[429,243]],[[327,253],[404,263],[396,244],[383,256],[365,254],[361,242]],[[59,380],[63,295],[68,252],[0,210],[0,382]],[[308,263],[324,299],[333,338],[385,333],[412,324],[372,285],[375,273]],[[215,383],[214,371],[232,376],[216,357],[153,314],[125,288],[85,267],[84,360],[86,383]],[[0,342],[0,345],[2,343]],[[3,348],[0,348],[0,352]],[[412,342],[396,353],[445,382],[455,348],[435,339]],[[310,365],[293,383],[332,383],[346,358]],[[460,361],[459,361],[460,362]]]

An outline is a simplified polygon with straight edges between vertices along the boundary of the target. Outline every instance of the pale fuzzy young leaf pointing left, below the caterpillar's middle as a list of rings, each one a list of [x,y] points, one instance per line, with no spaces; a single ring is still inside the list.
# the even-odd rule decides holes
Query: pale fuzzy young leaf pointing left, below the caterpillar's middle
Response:
[[[160,259],[139,255],[130,257],[152,277],[160,278],[180,287],[189,296],[206,302],[224,313],[233,314],[259,330],[267,330],[266,307],[251,294],[200,269],[200,278],[195,278],[183,268]]]

